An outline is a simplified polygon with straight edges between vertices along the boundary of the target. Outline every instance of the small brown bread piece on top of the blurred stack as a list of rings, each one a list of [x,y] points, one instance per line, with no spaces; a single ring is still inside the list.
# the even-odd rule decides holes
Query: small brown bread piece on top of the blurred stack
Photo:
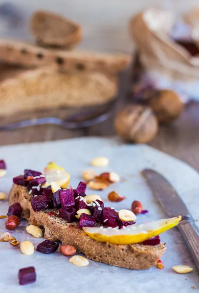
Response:
[[[36,42],[42,46],[56,46],[71,49],[82,40],[78,23],[49,11],[36,11],[30,28]]]

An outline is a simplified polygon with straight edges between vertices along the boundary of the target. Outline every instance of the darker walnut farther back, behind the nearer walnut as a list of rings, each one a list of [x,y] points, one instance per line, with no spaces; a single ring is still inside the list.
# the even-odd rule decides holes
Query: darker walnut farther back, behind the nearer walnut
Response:
[[[184,109],[178,95],[169,89],[159,90],[149,101],[159,123],[170,123],[179,117]]]

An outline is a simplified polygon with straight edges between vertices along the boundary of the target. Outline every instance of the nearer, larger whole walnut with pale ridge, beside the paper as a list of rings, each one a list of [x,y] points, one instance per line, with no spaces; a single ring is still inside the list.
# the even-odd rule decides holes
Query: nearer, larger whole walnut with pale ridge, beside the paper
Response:
[[[150,107],[128,105],[115,118],[115,130],[125,141],[147,143],[157,133],[157,119]]]

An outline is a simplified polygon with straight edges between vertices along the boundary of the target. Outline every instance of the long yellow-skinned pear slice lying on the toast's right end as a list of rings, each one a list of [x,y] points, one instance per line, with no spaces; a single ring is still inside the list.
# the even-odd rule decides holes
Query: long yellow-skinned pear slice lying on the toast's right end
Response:
[[[112,244],[140,243],[169,230],[179,223],[181,216],[152,221],[146,224],[134,224],[118,230],[99,227],[84,227],[85,233],[92,239]]]

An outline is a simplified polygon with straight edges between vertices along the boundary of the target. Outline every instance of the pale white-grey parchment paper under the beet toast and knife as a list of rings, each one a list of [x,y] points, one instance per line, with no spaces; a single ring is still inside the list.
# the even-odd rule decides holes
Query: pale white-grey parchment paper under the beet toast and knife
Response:
[[[146,215],[139,215],[137,222],[146,222],[166,218],[155,196],[140,175],[143,168],[151,167],[164,176],[177,189],[180,196],[192,212],[199,217],[199,174],[185,163],[145,145],[124,145],[120,141],[101,138],[71,139],[59,142],[27,144],[0,147],[0,159],[7,164],[7,174],[0,178],[0,191],[7,194],[12,186],[12,178],[23,172],[24,168],[42,170],[54,161],[65,167],[71,174],[71,185],[76,188],[83,170],[91,168],[90,161],[96,156],[106,156],[110,166],[96,168],[97,172],[115,171],[121,176],[121,182],[111,185],[105,191],[97,193],[105,200],[106,206],[115,209],[130,209],[133,200],[140,200]],[[106,201],[107,194],[115,190],[127,197],[121,203]],[[93,190],[87,190],[87,194]],[[6,214],[8,202],[0,202],[0,215]],[[0,232],[4,232],[4,219],[0,219]],[[23,220],[17,228],[20,232],[12,234],[19,240],[30,240],[36,246],[44,239],[36,239],[25,231],[27,221]],[[146,271],[133,271],[89,260],[88,267],[76,267],[59,250],[45,255],[35,251],[33,255],[23,255],[20,248],[0,242],[0,293],[188,293],[199,292],[198,272],[177,229],[160,235],[166,242],[167,251],[162,257],[165,268],[156,267]],[[194,271],[177,274],[174,265],[190,265]],[[34,266],[37,281],[34,284],[20,286],[18,271]],[[195,287],[195,291],[191,287]]]

